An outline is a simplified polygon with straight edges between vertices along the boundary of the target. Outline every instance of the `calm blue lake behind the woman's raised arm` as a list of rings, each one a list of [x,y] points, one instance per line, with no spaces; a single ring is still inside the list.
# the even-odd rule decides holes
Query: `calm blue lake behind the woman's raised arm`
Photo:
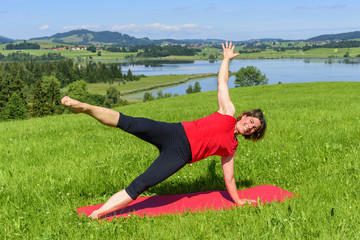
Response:
[[[197,74],[217,73],[221,60],[215,62],[195,61],[146,61],[136,63],[122,63],[124,73],[130,69],[135,75],[170,75],[170,74]],[[304,83],[304,82],[343,82],[360,81],[360,59],[253,59],[238,60],[230,62],[231,72],[238,71],[241,67],[255,66],[269,79],[269,84],[281,83]],[[201,91],[212,91],[217,89],[217,78],[206,78],[192,80],[184,84],[151,92],[154,96],[159,90],[163,93],[186,94],[189,84],[198,81]],[[235,87],[235,76],[229,78],[229,87]],[[143,98],[144,93],[128,95],[131,98]]]

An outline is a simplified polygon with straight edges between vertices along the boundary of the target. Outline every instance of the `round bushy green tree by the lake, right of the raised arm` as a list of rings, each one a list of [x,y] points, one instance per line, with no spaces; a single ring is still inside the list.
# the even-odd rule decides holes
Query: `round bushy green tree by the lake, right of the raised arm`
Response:
[[[235,85],[236,87],[257,86],[267,84],[269,79],[265,74],[261,74],[261,71],[254,66],[247,66],[246,68],[240,68],[236,73]]]

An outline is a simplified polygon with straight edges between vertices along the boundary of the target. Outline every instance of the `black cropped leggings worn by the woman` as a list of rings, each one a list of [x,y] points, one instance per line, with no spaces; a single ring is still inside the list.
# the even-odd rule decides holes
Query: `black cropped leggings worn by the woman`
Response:
[[[181,123],[158,122],[120,113],[117,127],[153,144],[160,151],[150,167],[125,188],[133,200],[191,161],[190,144]]]

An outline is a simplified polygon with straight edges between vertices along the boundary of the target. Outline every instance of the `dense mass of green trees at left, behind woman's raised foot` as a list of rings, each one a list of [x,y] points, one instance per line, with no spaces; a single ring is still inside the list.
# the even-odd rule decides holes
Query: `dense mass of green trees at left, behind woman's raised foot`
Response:
[[[0,119],[23,119],[64,112],[60,89],[69,96],[100,106],[127,104],[120,92],[110,88],[106,96],[90,94],[87,83],[138,80],[129,70],[123,74],[118,64],[74,64],[59,62],[10,62],[0,64]]]

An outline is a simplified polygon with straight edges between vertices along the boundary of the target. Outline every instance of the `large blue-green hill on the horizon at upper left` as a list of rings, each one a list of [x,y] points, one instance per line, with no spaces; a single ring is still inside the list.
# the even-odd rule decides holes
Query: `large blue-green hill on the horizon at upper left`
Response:
[[[93,32],[86,29],[57,33],[50,37],[31,38],[30,40],[70,44],[108,44],[121,46],[153,44],[148,38],[135,38],[127,34],[110,31]]]

